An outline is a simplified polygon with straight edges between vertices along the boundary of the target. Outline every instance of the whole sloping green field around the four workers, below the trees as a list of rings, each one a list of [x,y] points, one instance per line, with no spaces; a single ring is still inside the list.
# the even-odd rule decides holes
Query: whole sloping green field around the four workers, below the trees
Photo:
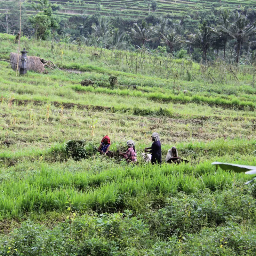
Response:
[[[14,37],[0,38],[0,255],[255,255],[255,186],[211,165],[256,164],[252,67],[22,38],[63,70],[16,77]],[[176,146],[189,163],[144,163],[155,131],[163,160]],[[95,153],[106,134],[114,151],[135,140],[138,164]]]

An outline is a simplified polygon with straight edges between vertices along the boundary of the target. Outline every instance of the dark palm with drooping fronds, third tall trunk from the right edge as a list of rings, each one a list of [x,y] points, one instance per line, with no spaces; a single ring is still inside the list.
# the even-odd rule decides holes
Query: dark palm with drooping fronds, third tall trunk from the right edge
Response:
[[[205,63],[207,63],[207,50],[210,47],[210,42],[212,39],[212,28],[208,27],[206,21],[197,29],[196,34],[191,34],[189,37],[190,41],[188,43],[194,44],[196,47],[200,47],[203,51]]]

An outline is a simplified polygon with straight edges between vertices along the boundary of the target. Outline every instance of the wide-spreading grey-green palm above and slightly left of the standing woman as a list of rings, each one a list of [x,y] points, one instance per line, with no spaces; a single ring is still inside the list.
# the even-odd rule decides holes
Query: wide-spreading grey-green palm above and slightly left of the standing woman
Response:
[[[145,45],[147,41],[156,40],[158,37],[155,37],[157,34],[157,30],[153,30],[153,27],[148,28],[145,20],[142,21],[141,27],[137,23],[133,23],[133,27],[131,28],[131,36],[142,44]]]

